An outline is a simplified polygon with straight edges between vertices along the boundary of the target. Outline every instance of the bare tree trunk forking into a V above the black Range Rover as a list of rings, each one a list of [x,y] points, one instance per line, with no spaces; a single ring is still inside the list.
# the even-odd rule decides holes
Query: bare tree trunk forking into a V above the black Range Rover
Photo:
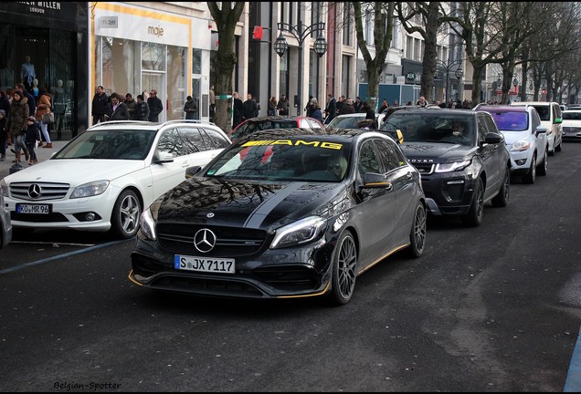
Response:
[[[367,67],[367,97],[365,100],[375,109],[379,98],[379,78],[386,64],[387,52],[391,47],[394,27],[393,2],[350,2],[354,8],[355,32],[357,47],[364,57]],[[375,57],[371,57],[367,41],[364,38],[363,21],[373,17]]]

